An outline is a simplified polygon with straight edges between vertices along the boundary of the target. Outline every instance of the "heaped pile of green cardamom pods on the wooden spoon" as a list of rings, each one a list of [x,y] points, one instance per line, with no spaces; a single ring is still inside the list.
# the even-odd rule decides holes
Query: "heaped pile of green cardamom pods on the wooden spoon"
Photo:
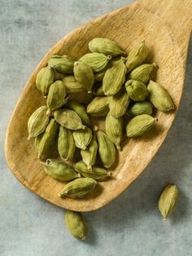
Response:
[[[43,169],[53,179],[69,182],[59,196],[75,199],[90,195],[98,182],[110,178],[107,169],[116,163],[125,136],[138,137],[151,130],[157,122],[155,108],[174,109],[168,91],[151,80],[156,64],[147,62],[145,42],[128,55],[107,38],[94,38],[88,46],[90,52],[79,60],[53,55],[41,68],[36,86],[46,105],[28,119],[28,139],[35,139]],[[78,102],[82,92],[91,95],[88,104]],[[103,117],[105,130],[95,129],[94,119]],[[58,154],[54,159],[53,151]],[[66,218],[68,227],[70,218],[81,220],[69,212]],[[85,239],[84,233],[76,230],[74,236]]]

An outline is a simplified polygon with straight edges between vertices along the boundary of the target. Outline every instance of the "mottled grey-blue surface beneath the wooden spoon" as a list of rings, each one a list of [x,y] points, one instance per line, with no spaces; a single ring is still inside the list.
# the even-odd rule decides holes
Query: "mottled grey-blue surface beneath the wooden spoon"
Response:
[[[7,169],[7,122],[24,83],[41,57],[64,34],[131,1],[0,0],[0,255],[115,256],[192,254],[192,44],[177,119],[144,173],[116,201],[85,214],[89,239],[76,241],[64,210],[24,188]],[[22,159],[21,159],[22,161]],[[181,190],[175,214],[163,222],[157,208],[167,183]]]

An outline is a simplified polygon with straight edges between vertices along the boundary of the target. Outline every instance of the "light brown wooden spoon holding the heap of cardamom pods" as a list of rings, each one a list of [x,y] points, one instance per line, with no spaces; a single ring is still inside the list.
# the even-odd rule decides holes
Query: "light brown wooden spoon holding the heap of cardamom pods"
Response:
[[[119,196],[146,168],[172,126],[185,81],[191,28],[191,0],[142,0],[92,20],[60,40],[28,79],[7,128],[7,164],[15,177],[38,196],[70,210],[96,210]],[[58,193],[64,184],[44,173],[37,159],[34,141],[27,139],[28,117],[45,104],[36,89],[35,79],[51,55],[68,54],[78,58],[88,51],[89,40],[97,37],[115,40],[126,51],[145,40],[151,49],[151,59],[159,66],[157,81],[168,89],[177,109],[172,113],[158,112],[156,130],[141,139],[124,142],[113,178],[99,183],[93,196],[84,200],[61,199]]]

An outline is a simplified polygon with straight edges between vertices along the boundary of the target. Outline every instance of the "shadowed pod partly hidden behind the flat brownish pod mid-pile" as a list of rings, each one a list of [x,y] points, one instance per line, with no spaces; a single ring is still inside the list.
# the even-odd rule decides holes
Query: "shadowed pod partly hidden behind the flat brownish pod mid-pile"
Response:
[[[81,117],[83,124],[90,126],[89,116],[86,113],[85,107],[83,105],[78,104],[75,100],[69,100],[66,106],[75,111],[77,115]]]

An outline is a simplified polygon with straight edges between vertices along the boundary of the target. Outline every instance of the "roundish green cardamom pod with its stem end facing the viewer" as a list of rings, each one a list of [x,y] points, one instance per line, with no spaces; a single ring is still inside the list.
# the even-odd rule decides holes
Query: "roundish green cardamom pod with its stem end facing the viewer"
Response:
[[[125,88],[130,99],[134,101],[145,100],[149,95],[149,90],[147,90],[146,85],[143,82],[136,80],[129,80],[125,83]]]

